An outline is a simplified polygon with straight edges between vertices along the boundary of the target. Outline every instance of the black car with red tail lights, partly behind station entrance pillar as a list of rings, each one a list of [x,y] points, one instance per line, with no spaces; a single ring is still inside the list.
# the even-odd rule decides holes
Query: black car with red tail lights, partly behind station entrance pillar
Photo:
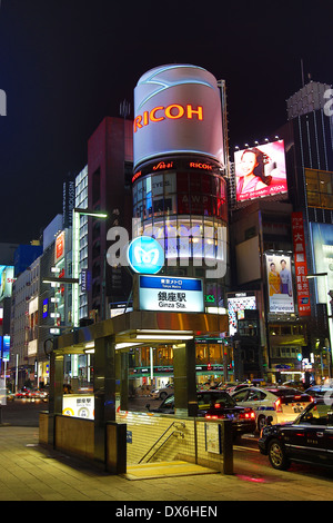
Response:
[[[225,391],[199,391],[198,416],[206,420],[231,420],[233,435],[252,433],[255,430],[255,413],[252,408],[241,407]],[[150,408],[150,412],[174,414],[174,394],[168,396],[159,407]]]

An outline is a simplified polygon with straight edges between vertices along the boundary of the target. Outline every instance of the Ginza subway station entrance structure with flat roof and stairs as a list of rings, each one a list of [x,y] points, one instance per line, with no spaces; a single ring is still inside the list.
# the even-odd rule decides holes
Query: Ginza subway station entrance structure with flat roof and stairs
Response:
[[[95,464],[109,463],[113,473],[124,472],[129,462],[139,464],[153,446],[152,438],[160,440],[161,433],[169,433],[173,447],[181,441],[183,452],[176,455],[186,457],[185,441],[190,432],[198,433],[194,421],[199,420],[195,337],[226,330],[226,315],[131,312],[54,338],[49,413],[47,422],[43,417],[40,423],[40,441]],[[161,341],[173,349],[174,415],[129,411],[130,351],[139,344],[158,346]],[[65,357],[92,351],[91,386],[74,387],[68,394],[63,388]],[[72,376],[73,383],[78,383],[75,378]],[[192,454],[195,452],[198,448]]]

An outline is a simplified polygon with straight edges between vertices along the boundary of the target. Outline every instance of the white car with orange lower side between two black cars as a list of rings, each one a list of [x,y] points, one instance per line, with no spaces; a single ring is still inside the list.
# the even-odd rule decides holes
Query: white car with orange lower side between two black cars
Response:
[[[232,397],[238,405],[253,408],[259,432],[268,416],[273,424],[293,422],[313,401],[310,395],[290,387],[248,387],[233,393]]]

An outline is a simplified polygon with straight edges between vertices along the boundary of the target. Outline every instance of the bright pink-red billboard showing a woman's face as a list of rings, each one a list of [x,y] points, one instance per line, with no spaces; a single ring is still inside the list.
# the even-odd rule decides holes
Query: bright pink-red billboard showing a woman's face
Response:
[[[287,193],[284,141],[234,152],[236,201]]]

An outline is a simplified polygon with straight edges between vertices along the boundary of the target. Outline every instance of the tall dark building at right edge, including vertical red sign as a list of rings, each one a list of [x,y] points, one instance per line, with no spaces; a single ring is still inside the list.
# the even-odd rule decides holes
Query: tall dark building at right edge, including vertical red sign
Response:
[[[300,316],[307,325],[307,367],[316,379],[332,376],[333,289],[333,116],[332,86],[310,81],[286,101],[287,122],[279,129],[284,138],[294,230],[304,238],[304,255],[294,250]],[[299,218],[297,218],[299,216]],[[295,244],[295,248],[300,245]],[[299,258],[304,256],[304,263]],[[303,266],[306,268],[304,282]],[[307,294],[304,288],[307,285]],[[305,288],[306,292],[306,288]],[[300,299],[303,296],[303,303]],[[307,300],[304,310],[304,302]]]

